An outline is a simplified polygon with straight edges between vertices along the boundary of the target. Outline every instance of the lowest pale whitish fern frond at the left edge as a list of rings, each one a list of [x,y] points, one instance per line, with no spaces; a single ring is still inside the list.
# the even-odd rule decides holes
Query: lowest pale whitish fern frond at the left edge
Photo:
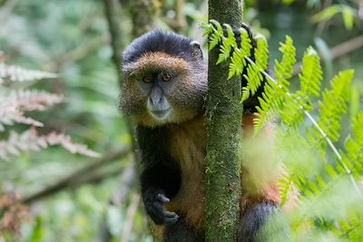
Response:
[[[44,150],[49,146],[61,145],[71,153],[82,154],[89,157],[99,157],[99,153],[89,150],[82,144],[74,143],[71,137],[63,133],[51,132],[38,136],[33,128],[21,134],[12,131],[8,140],[0,141],[0,160],[9,160],[12,156],[18,156],[29,150]]]

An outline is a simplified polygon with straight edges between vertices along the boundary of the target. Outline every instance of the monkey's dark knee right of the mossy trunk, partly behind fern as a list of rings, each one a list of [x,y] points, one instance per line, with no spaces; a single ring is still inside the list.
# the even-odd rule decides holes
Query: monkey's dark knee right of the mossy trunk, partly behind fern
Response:
[[[241,218],[239,242],[289,241],[289,228],[277,206],[269,201],[250,205]]]

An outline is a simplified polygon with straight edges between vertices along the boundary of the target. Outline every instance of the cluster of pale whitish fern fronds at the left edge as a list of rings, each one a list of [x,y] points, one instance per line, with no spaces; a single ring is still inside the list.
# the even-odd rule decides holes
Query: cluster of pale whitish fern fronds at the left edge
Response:
[[[19,66],[0,63],[0,84],[8,86],[2,90],[0,98],[0,131],[5,131],[5,125],[23,123],[32,128],[21,134],[11,131],[8,140],[0,141],[0,160],[8,160],[10,155],[19,155],[26,150],[41,150],[50,145],[62,145],[65,150],[90,157],[98,157],[98,153],[88,150],[81,144],[76,144],[63,133],[51,132],[38,135],[35,127],[43,127],[44,123],[25,116],[25,111],[44,111],[54,104],[64,101],[63,95],[36,90],[12,90],[11,82],[32,82],[44,78],[55,78],[54,73],[26,70]]]

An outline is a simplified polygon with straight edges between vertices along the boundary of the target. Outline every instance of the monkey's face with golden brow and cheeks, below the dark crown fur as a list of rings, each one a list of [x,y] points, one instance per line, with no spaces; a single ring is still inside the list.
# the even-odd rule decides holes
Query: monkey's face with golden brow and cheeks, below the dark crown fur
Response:
[[[195,66],[195,65],[200,66]],[[206,69],[167,53],[144,53],[123,66],[123,113],[144,126],[188,121],[200,113]]]

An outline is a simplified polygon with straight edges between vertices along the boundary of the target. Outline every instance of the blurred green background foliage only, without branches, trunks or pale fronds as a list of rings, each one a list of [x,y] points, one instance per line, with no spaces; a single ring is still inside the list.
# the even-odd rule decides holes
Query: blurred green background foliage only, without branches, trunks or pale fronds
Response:
[[[128,1],[121,2],[124,7],[120,24],[125,31],[124,44],[127,44],[132,40],[132,23]],[[319,46],[331,48],[363,34],[362,21],[357,15],[352,21],[348,14],[343,15],[343,20],[338,15],[327,17],[327,14],[321,14],[324,12],[320,11],[328,11],[324,10],[327,9],[324,8],[325,1],[284,1],[289,5],[278,2],[249,0],[245,5],[246,21],[256,32],[270,37],[272,58],[278,53],[279,42],[286,34],[295,40],[299,60],[303,50],[314,44],[315,37],[325,44],[317,44],[318,51],[321,49],[323,52],[324,48]],[[353,1],[344,2],[347,7],[358,9]],[[172,29],[173,8],[174,0],[163,2],[158,26]],[[116,108],[119,89],[117,70],[111,62],[110,35],[103,12],[103,2],[95,0],[0,0],[0,51],[4,53],[5,63],[59,73],[59,79],[55,81],[32,83],[37,89],[65,95],[64,104],[34,113],[36,119],[46,123],[45,130],[65,131],[74,140],[107,154],[129,144],[131,139]],[[182,33],[203,41],[198,26],[201,20],[206,19],[206,3],[185,1],[183,13],[186,25]],[[310,22],[313,14],[320,16],[317,25]],[[321,24],[323,22],[325,24]],[[360,48],[326,62],[330,63],[330,73],[347,68],[357,70],[349,104],[352,117],[352,113],[362,109],[362,56]],[[24,130],[25,127],[18,125],[14,129]],[[343,125],[343,132],[348,129]],[[0,133],[0,138],[4,139],[5,135]],[[117,160],[109,164],[107,170],[121,172],[129,161],[130,157]],[[56,147],[28,152],[10,161],[1,160],[0,194],[16,190],[26,197],[90,162],[89,158],[75,156]],[[134,194],[138,189],[132,189],[122,205],[112,205],[110,200],[118,187],[120,179],[110,176],[102,182],[64,189],[36,201],[31,206],[31,219],[23,223],[22,233],[4,235],[4,239],[26,242],[120,241],[128,221],[127,213],[135,201],[132,196],[137,196]],[[130,241],[152,241],[146,232],[142,207],[139,208],[132,220]],[[104,233],[111,233],[111,239],[107,240],[110,235]]]

